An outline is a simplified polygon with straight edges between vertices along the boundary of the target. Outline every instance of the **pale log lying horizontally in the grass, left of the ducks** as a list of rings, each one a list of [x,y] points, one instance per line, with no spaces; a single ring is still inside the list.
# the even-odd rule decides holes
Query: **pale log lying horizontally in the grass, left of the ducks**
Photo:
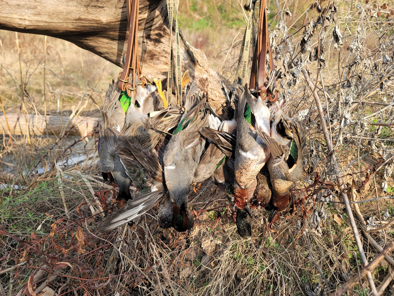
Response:
[[[23,114],[7,113],[7,120],[11,131],[5,124],[4,114],[0,114],[0,134],[7,135],[61,135],[67,133],[70,136],[85,136],[88,133],[99,130],[101,118],[78,117],[69,120],[68,116],[47,115],[46,120],[42,115],[28,114],[26,126]]]

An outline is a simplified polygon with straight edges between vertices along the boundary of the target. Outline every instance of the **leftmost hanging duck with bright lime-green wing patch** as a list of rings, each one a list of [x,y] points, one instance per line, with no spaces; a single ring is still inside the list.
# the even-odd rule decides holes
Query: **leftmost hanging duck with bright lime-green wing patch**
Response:
[[[118,208],[131,198],[131,180],[120,161],[117,149],[124,143],[115,137],[110,128],[115,128],[126,137],[137,141],[148,150],[156,147],[163,133],[177,125],[180,114],[177,110],[164,108],[156,91],[156,86],[138,85],[134,96],[128,97],[112,83],[106,93],[102,111],[99,136],[100,169],[104,180],[114,182],[119,187]]]

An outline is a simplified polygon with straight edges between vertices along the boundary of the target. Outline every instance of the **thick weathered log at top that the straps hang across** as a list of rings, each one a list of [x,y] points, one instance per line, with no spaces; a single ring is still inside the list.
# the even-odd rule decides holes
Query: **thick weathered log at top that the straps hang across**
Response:
[[[125,0],[2,0],[0,29],[42,34],[70,41],[122,66],[126,52],[127,13]],[[145,75],[167,76],[169,28],[165,0],[140,0],[139,50]],[[208,92],[219,109],[223,95],[220,77],[203,51],[181,42],[183,71],[189,69],[201,91]],[[114,77],[115,78],[115,77]],[[215,104],[215,101],[217,103]]]

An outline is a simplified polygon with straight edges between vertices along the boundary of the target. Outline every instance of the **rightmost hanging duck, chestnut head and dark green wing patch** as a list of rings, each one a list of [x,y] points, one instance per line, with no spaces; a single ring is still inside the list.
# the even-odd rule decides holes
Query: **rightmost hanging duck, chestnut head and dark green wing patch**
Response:
[[[301,179],[303,148],[308,132],[297,119],[278,111],[272,124],[271,135],[262,135],[271,152],[267,163],[273,187],[270,225],[277,221],[279,213],[287,207],[290,187]]]

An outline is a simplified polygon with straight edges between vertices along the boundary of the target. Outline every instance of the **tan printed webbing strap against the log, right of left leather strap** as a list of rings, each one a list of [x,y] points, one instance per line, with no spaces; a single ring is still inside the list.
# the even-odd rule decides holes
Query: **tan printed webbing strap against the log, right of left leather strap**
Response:
[[[179,0],[167,0],[167,12],[168,22],[170,27],[170,57],[168,67],[168,79],[167,79],[167,101],[171,103],[172,94],[172,83],[173,77],[175,76],[175,95],[177,96],[177,107],[182,108],[182,65],[180,61],[180,40],[179,40],[179,28],[178,28],[178,7]],[[172,44],[172,28],[175,14],[175,67],[173,63],[173,44]],[[174,75],[175,72],[175,75]]]

